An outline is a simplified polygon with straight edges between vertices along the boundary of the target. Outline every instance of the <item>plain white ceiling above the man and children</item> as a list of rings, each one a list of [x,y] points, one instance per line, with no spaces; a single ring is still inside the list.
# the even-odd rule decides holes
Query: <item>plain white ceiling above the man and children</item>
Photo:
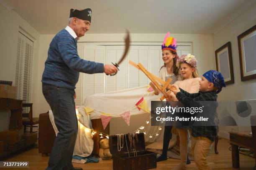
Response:
[[[215,33],[256,0],[7,0],[40,34],[56,34],[70,8],[92,9],[87,33]]]

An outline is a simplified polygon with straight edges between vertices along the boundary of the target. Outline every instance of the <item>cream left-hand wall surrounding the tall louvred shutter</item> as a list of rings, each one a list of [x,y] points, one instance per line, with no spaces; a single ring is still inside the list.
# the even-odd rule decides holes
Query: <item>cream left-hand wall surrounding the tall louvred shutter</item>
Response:
[[[15,69],[17,57],[18,31],[20,28],[29,32],[33,44],[33,70],[32,70],[32,96],[31,102],[36,98],[34,87],[37,87],[34,81],[37,75],[37,56],[39,49],[39,33],[31,27],[23,18],[14,11],[9,11],[0,5],[0,80],[13,81],[15,85]],[[37,88],[36,88],[37,89]],[[33,105],[36,108],[36,105]],[[7,130],[9,126],[10,112],[0,110],[0,131]]]

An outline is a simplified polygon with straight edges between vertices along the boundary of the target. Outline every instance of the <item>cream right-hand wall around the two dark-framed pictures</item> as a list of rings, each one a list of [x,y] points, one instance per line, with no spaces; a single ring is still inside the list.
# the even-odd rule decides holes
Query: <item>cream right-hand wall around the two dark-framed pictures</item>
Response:
[[[235,79],[235,84],[228,85],[226,88],[223,88],[222,92],[218,95],[218,100],[236,101],[256,99],[256,79],[243,82],[241,81],[237,40],[238,35],[255,24],[256,3],[251,5],[251,7],[241,13],[236,19],[228,23],[228,25],[226,25],[222,30],[213,35],[214,50],[217,50],[228,41],[231,42]],[[219,135],[229,138],[228,131],[231,131],[232,128],[238,130],[238,127],[220,127]]]

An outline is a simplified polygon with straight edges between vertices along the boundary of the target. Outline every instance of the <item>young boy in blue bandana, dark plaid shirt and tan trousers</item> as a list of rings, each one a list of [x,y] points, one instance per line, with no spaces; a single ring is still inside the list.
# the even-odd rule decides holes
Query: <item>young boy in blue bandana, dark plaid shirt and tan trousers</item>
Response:
[[[223,76],[220,72],[215,70],[205,72],[205,74],[202,76],[202,80],[200,80],[199,83],[200,91],[198,93],[190,94],[181,88],[173,90],[173,92],[184,106],[191,107],[200,103],[197,101],[217,101],[217,94],[221,91],[222,87],[226,87]],[[215,116],[218,104],[213,106],[214,107],[212,107],[212,105],[206,105],[204,107],[203,110],[204,113],[207,113],[207,117]],[[207,124],[207,126],[197,125],[192,127],[191,151],[195,159],[195,164],[199,170],[210,170],[210,166],[207,164],[206,158],[216,135],[216,125]]]

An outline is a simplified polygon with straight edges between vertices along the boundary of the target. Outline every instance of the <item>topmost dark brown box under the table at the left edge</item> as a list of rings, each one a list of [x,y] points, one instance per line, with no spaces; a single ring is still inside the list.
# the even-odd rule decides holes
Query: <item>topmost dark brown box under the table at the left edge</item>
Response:
[[[23,138],[23,129],[5,130],[0,132],[0,140],[5,143],[20,142]]]

